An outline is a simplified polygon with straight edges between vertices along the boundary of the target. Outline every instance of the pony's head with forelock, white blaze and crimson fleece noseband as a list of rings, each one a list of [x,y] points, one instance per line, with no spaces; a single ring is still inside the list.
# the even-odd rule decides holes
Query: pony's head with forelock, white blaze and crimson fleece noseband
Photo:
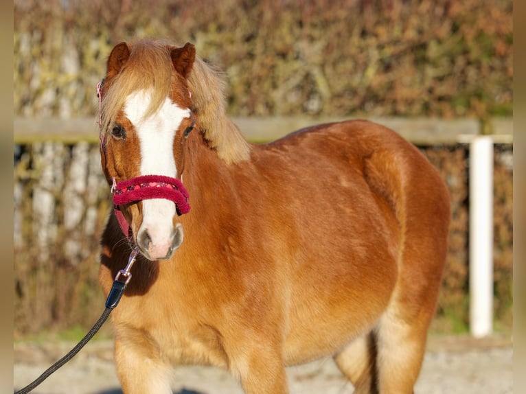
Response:
[[[190,209],[183,150],[195,125],[187,78],[194,45],[120,43],[100,86],[102,168],[115,205],[148,259],[181,246],[177,217]]]

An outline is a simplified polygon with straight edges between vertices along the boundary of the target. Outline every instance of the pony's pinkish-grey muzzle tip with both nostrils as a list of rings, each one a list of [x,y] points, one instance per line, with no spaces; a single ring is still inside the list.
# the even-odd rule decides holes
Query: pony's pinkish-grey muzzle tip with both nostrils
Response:
[[[183,226],[177,223],[168,240],[156,236],[152,229],[144,228],[137,235],[139,251],[149,260],[169,259],[183,243]]]

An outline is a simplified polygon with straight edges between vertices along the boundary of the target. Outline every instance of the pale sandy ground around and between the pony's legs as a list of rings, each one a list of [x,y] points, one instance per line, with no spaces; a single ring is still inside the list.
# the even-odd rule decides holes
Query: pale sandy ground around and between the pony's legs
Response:
[[[62,357],[73,343],[14,345],[14,385],[21,389]],[[415,387],[417,394],[513,393],[511,338],[475,340],[468,336],[432,337]],[[287,371],[291,394],[350,394],[347,382],[331,359]],[[175,394],[242,394],[238,383],[220,369],[179,367]],[[122,394],[113,366],[113,344],[98,340],[65,364],[35,394]]]

